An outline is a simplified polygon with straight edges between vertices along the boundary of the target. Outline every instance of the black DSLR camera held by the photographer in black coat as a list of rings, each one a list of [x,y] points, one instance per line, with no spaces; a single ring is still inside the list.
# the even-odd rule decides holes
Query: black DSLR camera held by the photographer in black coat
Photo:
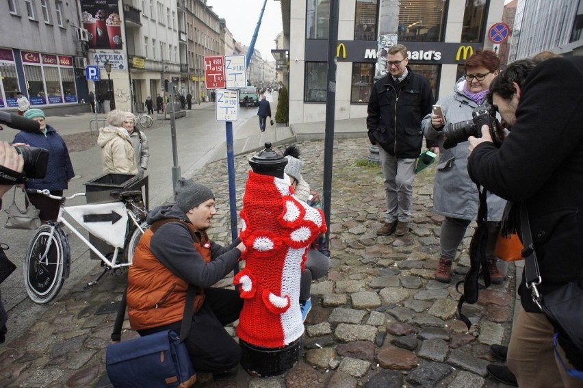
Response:
[[[460,121],[454,124],[446,122],[441,132],[445,138],[443,148],[452,148],[458,143],[467,141],[470,136],[481,138],[482,125],[484,124],[490,129],[490,135],[494,145],[500,148],[500,145],[502,145],[502,138],[498,134],[500,123],[496,118],[496,110],[489,103],[484,103],[484,105],[480,105],[474,109],[474,112],[471,112],[471,120]]]

